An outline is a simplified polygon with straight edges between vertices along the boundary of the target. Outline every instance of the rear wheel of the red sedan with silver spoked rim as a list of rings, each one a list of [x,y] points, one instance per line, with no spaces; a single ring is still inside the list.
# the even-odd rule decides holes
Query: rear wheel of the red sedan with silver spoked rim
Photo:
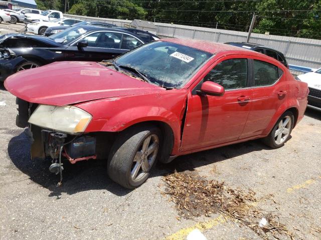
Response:
[[[290,138],[294,125],[294,115],[291,111],[285,111],[275,123],[270,134],[262,138],[262,141],[272,147],[279,148]]]

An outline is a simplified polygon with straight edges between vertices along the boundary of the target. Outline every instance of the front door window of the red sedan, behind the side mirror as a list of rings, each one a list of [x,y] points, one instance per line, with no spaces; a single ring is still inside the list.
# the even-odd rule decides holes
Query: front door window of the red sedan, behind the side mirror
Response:
[[[247,84],[247,59],[232,58],[218,63],[204,81],[214,81],[225,89],[244,88]]]

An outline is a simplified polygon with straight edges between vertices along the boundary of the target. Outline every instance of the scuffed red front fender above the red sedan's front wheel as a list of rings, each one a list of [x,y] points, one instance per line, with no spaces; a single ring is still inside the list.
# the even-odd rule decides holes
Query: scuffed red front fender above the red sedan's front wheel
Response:
[[[93,116],[85,132],[117,132],[140,122],[164,122],[174,133],[174,153],[179,151],[181,144],[181,125],[186,99],[187,89],[182,88],[138,96],[99,99],[79,103],[76,106]]]

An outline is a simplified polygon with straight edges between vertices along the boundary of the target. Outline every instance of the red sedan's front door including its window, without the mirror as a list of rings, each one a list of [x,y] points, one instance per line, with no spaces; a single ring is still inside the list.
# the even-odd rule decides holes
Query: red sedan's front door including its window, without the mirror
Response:
[[[249,86],[248,60],[225,57],[203,81],[224,86],[223,96],[189,93],[181,150],[192,150],[237,140],[245,126],[252,101]]]

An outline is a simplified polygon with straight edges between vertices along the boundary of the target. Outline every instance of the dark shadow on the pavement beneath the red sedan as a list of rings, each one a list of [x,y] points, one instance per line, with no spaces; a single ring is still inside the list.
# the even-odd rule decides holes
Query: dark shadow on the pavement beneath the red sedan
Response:
[[[167,175],[175,171],[194,170],[199,166],[262,149],[269,148],[254,140],[180,156],[168,164],[158,163],[150,177]],[[105,189],[119,196],[131,192],[108,177],[104,160],[80,161],[76,164],[64,161],[63,184],[60,187],[56,186],[60,178],[59,175],[49,171],[51,160],[30,159],[30,140],[26,130],[10,140],[8,153],[18,169],[29,175],[32,181],[51,191],[49,196],[59,198],[62,192],[74,194],[93,189]]]

